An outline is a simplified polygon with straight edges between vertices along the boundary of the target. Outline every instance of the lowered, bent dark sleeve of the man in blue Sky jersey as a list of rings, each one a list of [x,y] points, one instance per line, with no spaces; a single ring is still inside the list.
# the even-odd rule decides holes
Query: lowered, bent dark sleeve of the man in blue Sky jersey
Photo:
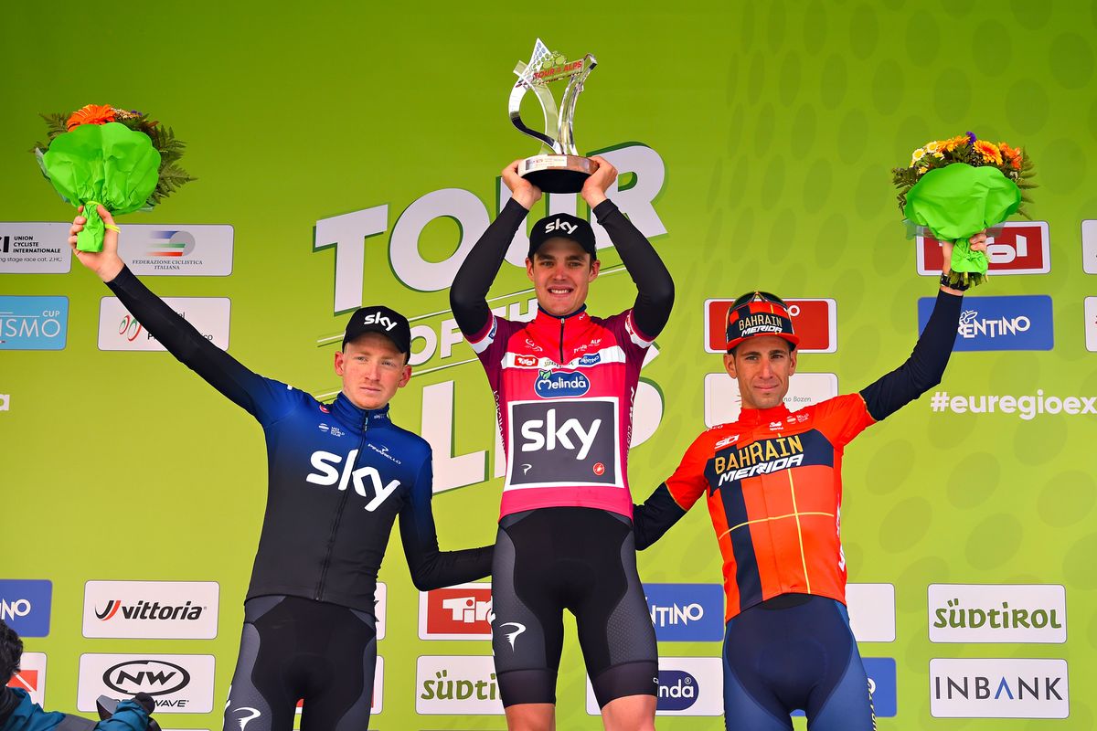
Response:
[[[430,459],[419,472],[411,496],[400,510],[400,541],[408,561],[411,583],[421,592],[452,586],[490,575],[495,546],[466,548],[460,551],[438,550],[434,515],[430,509],[432,495]]]

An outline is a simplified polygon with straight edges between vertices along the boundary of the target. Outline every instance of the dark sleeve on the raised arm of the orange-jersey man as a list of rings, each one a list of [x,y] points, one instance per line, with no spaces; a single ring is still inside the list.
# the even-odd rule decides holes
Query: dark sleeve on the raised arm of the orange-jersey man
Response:
[[[906,363],[861,390],[869,414],[877,421],[895,413],[941,382],[960,327],[963,297],[941,290],[926,329]]]

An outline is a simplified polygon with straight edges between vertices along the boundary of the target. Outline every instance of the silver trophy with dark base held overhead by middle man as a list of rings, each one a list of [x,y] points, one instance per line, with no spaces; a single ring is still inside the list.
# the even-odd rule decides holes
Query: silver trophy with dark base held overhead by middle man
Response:
[[[538,38],[530,62],[519,61],[514,67],[518,82],[510,92],[510,121],[519,132],[542,144],[542,153],[522,160],[518,174],[546,193],[578,193],[597,168],[589,158],[576,152],[572,132],[575,102],[583,91],[583,82],[597,64],[598,60],[590,54],[579,60],[568,61],[561,54],[548,50],[541,38]],[[564,79],[567,79],[567,87],[557,111],[556,100],[553,99],[548,84]],[[530,129],[522,123],[519,107],[527,91],[532,91],[541,102],[545,117],[543,133]],[[553,137],[553,134],[556,136]]]

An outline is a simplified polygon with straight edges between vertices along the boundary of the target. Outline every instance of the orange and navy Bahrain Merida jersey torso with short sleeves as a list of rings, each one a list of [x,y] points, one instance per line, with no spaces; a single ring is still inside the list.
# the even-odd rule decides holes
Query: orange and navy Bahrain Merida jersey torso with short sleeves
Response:
[[[725,620],[780,594],[845,603],[841,456],[873,423],[852,393],[795,412],[744,409],[690,445],[666,484],[685,511],[708,495],[724,560]]]

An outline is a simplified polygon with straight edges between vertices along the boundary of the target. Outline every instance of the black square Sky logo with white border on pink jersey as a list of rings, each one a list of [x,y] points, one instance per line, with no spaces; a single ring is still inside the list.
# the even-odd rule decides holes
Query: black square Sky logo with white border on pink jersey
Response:
[[[509,408],[506,489],[621,487],[617,399],[512,401]]]

